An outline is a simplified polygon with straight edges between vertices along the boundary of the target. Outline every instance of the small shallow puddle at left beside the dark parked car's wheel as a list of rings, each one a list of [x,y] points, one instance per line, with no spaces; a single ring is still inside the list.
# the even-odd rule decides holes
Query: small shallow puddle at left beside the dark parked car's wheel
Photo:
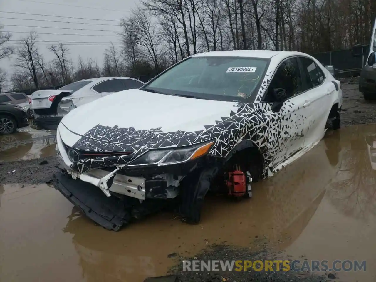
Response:
[[[0,161],[26,161],[55,154],[54,132],[27,127],[23,131],[0,135]]]

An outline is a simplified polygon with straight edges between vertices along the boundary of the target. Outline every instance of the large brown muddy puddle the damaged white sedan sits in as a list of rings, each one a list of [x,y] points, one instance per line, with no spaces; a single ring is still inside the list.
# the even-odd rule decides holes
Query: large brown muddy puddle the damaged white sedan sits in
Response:
[[[376,124],[328,134],[302,158],[255,183],[252,199],[208,197],[199,225],[158,214],[110,232],[45,184],[0,186],[0,280],[143,281],[174,264],[170,253],[193,255],[223,241],[255,247],[257,237],[294,257],[365,259],[367,271],[337,276],[373,281],[374,148]]]

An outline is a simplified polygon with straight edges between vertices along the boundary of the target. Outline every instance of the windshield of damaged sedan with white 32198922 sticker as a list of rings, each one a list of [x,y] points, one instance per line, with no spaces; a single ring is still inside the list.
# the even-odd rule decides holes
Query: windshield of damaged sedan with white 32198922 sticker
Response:
[[[192,57],[141,90],[198,99],[250,102],[268,64],[269,60],[263,58]]]

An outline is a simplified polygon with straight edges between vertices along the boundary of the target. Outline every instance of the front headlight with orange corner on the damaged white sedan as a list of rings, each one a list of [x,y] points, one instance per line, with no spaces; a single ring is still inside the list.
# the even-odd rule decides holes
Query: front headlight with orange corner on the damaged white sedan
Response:
[[[170,150],[150,150],[145,155],[139,157],[131,162],[129,166],[133,165],[171,165],[186,162],[188,160],[197,159],[206,155],[214,141],[200,143],[195,146],[184,147]]]

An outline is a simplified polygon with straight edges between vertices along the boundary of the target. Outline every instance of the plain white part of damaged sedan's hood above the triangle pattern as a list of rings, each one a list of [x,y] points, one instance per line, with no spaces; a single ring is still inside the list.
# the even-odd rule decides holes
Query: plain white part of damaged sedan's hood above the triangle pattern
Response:
[[[61,134],[62,141],[73,146],[81,136],[92,136],[92,130],[97,126],[102,126],[102,130],[106,127],[108,131],[132,127],[132,130],[138,132],[151,129],[162,132],[196,132],[219,123],[221,117],[230,117],[231,111],[236,112],[237,109],[236,102],[193,99],[129,89],[74,109],[61,120],[59,128],[67,133]],[[122,143],[121,140],[117,142]],[[129,140],[124,142],[128,143]]]

